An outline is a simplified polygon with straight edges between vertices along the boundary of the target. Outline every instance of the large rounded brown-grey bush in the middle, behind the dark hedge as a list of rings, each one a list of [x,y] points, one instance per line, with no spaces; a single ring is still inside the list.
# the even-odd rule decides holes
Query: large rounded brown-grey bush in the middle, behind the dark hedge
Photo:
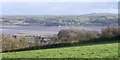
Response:
[[[97,31],[66,29],[59,31],[58,39],[62,43],[74,43],[78,41],[98,38],[98,35],[99,33]]]

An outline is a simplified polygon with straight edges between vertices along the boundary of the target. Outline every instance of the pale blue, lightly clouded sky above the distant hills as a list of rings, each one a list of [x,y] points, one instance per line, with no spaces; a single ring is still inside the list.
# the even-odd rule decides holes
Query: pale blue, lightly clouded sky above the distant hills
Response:
[[[0,15],[117,13],[118,0],[2,0]]]

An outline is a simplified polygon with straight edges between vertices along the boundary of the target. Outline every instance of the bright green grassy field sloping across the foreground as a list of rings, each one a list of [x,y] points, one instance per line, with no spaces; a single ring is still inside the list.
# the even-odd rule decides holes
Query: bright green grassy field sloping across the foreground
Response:
[[[7,52],[2,58],[118,58],[118,43]]]

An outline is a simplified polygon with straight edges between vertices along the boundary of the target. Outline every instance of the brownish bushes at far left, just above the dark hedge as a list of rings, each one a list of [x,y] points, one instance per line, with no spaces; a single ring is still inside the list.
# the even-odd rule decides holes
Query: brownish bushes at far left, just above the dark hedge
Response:
[[[25,36],[13,36],[14,35],[3,34],[1,37],[2,41],[0,41],[2,42],[2,51],[11,51],[41,45],[38,40],[32,40],[31,38],[26,38]]]

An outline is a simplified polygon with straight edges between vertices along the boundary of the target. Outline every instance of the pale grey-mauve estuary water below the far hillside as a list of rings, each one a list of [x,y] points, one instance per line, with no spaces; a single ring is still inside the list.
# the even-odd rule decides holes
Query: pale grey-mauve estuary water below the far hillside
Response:
[[[101,29],[106,26],[78,26],[78,27],[65,27],[65,26],[21,26],[21,25],[1,25],[0,33],[2,34],[33,34],[33,35],[54,35],[58,34],[61,29],[84,29],[84,30],[96,30],[101,31]]]

